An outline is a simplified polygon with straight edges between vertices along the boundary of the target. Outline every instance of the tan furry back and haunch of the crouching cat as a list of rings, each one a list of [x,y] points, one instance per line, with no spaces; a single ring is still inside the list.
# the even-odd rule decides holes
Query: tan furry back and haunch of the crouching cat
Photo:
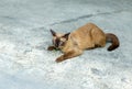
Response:
[[[98,36],[97,36],[98,35]],[[95,46],[95,44],[106,42],[106,35],[101,29],[94,23],[87,23],[70,34],[74,42],[78,44],[81,49]]]

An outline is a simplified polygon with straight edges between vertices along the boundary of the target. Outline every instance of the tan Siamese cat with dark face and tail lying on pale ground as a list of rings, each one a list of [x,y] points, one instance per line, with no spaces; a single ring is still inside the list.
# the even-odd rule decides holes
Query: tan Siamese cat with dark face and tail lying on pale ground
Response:
[[[79,56],[85,49],[105,47],[107,41],[111,42],[108,51],[113,51],[120,45],[114,34],[106,34],[94,23],[87,23],[72,33],[61,34],[53,30],[51,30],[51,33],[53,35],[53,46],[47,49],[61,49],[64,53],[56,59],[57,63]]]

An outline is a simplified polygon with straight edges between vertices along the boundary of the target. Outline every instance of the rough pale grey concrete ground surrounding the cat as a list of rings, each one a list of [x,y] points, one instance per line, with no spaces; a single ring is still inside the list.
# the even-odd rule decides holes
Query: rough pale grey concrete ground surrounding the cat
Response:
[[[120,47],[55,63],[50,29],[92,22]],[[0,89],[132,89],[132,0],[0,0]]]

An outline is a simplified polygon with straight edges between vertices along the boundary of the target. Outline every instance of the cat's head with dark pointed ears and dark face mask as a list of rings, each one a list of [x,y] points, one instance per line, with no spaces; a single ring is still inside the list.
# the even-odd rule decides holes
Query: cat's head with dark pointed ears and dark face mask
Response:
[[[55,31],[51,30],[51,33],[53,35],[53,45],[56,48],[62,48],[64,47],[64,45],[66,44],[66,42],[68,41],[68,36],[70,33],[66,33],[66,34],[61,34],[61,33],[56,33]]]

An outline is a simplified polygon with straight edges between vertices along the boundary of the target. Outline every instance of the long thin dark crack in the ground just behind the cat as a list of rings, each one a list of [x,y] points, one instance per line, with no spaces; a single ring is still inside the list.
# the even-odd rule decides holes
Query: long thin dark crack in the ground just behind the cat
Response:
[[[76,22],[80,19],[87,19],[87,18],[92,18],[92,16],[103,15],[103,14],[106,15],[106,14],[120,13],[122,11],[124,11],[124,10],[118,10],[118,11],[112,11],[112,12],[103,12],[103,13],[97,13],[97,14],[86,14],[86,15],[77,16],[75,19],[69,19],[69,20],[64,20],[64,21],[61,21],[61,22],[55,22],[55,23],[52,23],[50,25],[53,26],[53,25],[56,25],[56,24],[70,23],[70,22]]]

